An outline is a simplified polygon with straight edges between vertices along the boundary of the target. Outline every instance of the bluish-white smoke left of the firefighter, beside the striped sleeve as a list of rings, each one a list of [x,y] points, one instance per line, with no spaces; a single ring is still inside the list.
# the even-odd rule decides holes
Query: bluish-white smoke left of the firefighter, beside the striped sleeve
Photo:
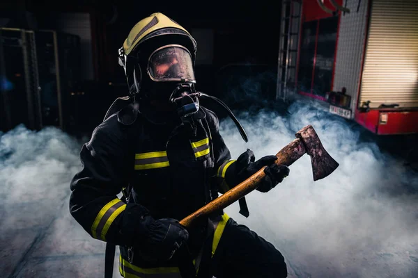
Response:
[[[54,127],[0,133],[1,277],[82,277],[93,262],[102,275],[104,244],[68,209],[81,145]]]

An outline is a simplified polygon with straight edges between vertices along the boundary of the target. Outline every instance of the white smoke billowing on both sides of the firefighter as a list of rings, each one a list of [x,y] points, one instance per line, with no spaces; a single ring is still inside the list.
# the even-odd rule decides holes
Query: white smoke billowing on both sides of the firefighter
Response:
[[[248,143],[231,120],[223,120],[233,157],[246,148],[257,158],[276,154],[311,124],[339,168],[314,182],[309,156],[302,156],[277,188],[247,195],[249,218],[238,214],[238,204],[226,212],[274,243],[286,257],[289,277],[417,277],[417,173],[314,106],[295,103],[281,114],[238,114]],[[103,275],[104,243],[88,236],[68,211],[70,180],[81,169],[85,141],[54,128],[18,126],[0,134],[2,277]]]

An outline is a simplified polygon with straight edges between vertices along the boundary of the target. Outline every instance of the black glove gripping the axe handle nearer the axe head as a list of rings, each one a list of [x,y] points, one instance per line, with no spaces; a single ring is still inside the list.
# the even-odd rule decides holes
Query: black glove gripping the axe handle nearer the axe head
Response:
[[[254,152],[252,152],[251,149],[247,149],[247,152],[244,152],[238,157],[236,163],[238,163],[242,169],[238,172],[238,179],[240,180],[239,182],[245,181],[245,179],[251,177],[262,167],[268,166],[264,170],[265,177],[261,180],[261,183],[257,188],[260,192],[266,193],[270,191],[277,186],[278,183],[281,183],[290,172],[286,165],[277,165],[274,163],[274,161],[277,161],[277,156],[263,156],[258,159],[258,161],[255,160],[256,156],[254,156]]]

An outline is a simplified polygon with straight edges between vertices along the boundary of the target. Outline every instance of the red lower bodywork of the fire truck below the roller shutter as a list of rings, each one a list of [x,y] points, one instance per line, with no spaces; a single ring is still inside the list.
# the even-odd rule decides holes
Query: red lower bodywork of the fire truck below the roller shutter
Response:
[[[384,118],[386,123],[380,121]],[[418,111],[356,111],[355,121],[379,135],[418,133]]]

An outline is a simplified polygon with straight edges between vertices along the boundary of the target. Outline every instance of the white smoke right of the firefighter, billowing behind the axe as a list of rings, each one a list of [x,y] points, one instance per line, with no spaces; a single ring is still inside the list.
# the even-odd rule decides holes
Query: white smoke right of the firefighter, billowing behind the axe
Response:
[[[418,277],[418,173],[382,154],[373,142],[338,116],[295,102],[285,117],[262,111],[238,115],[249,142],[231,120],[222,136],[238,157],[246,148],[256,158],[277,154],[311,124],[323,146],[340,164],[325,179],[313,181],[305,155],[290,175],[269,193],[247,195],[250,216],[238,204],[226,208],[279,249],[289,277]]]

